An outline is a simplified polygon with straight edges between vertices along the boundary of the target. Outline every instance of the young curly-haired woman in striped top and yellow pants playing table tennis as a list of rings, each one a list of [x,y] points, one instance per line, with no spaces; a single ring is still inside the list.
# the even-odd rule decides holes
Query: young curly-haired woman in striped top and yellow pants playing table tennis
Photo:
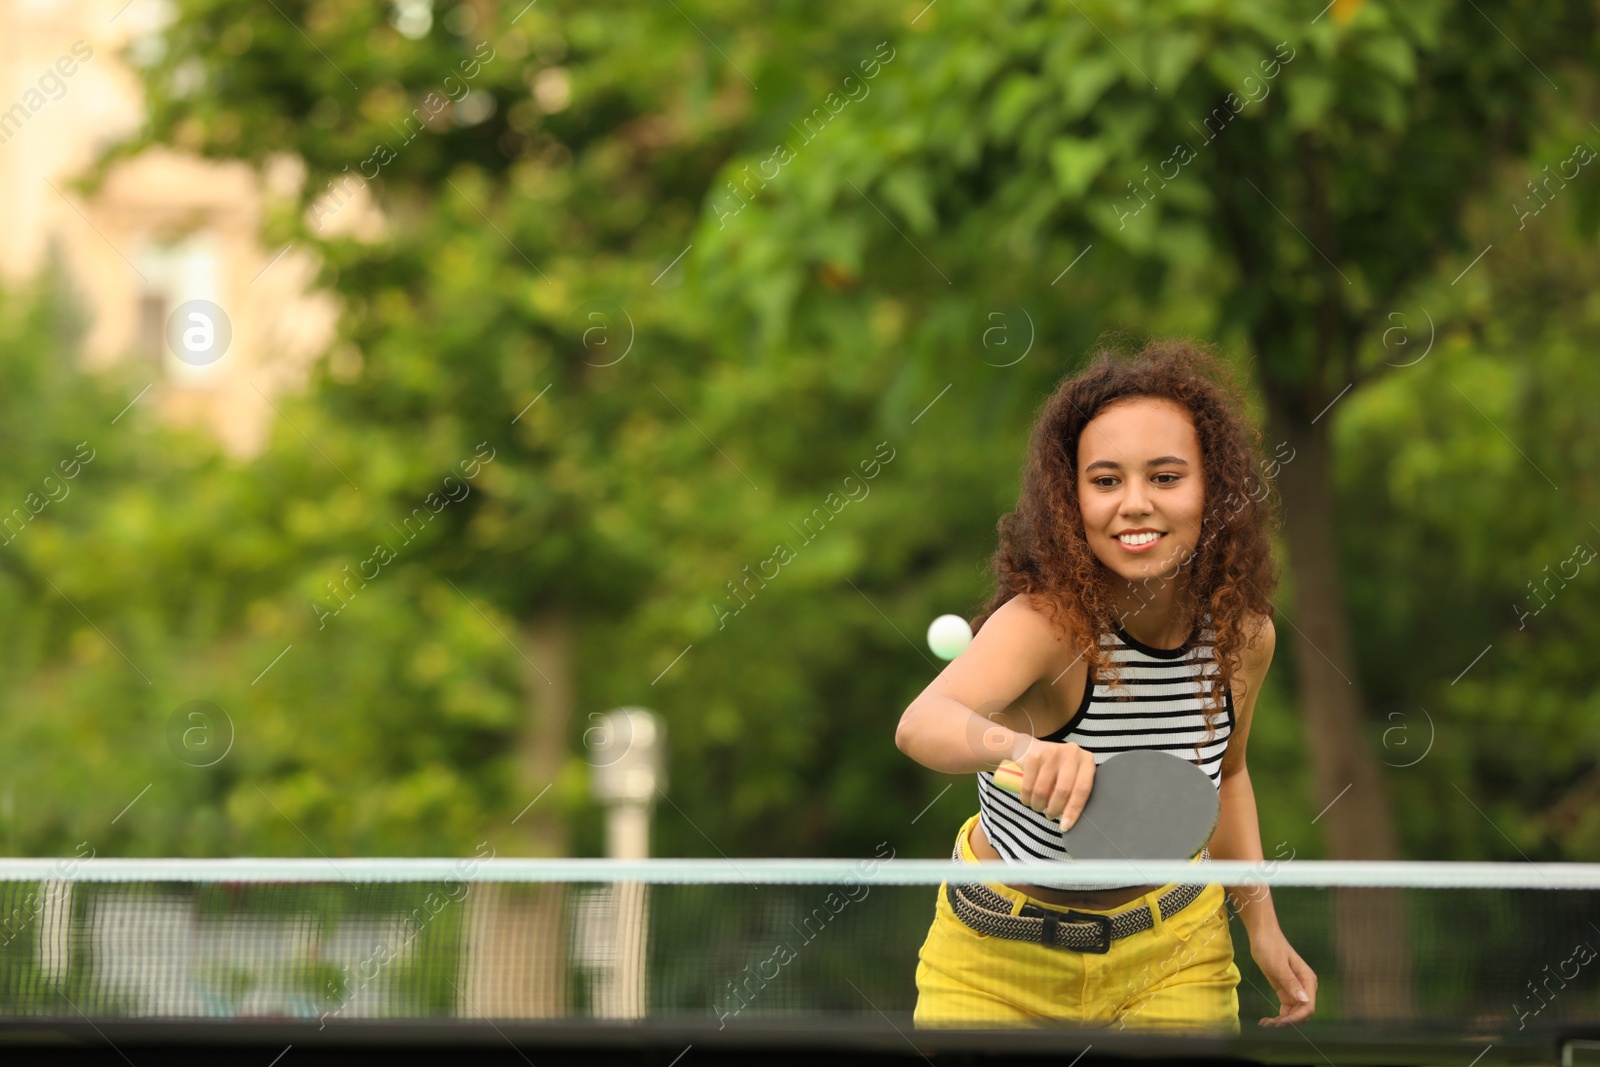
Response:
[[[894,736],[923,766],[978,773],[957,857],[1067,861],[1061,829],[1096,765],[1155,749],[1221,790],[1197,862],[1262,859],[1245,744],[1272,662],[1277,573],[1254,445],[1237,387],[1189,342],[1101,354],[1045,403],[1018,509],[1000,522],[998,590]],[[1022,766],[1019,798],[994,782],[1008,758]],[[957,889],[939,886],[922,947],[918,1027],[1238,1032],[1222,886]],[[1266,886],[1229,896],[1280,1000],[1262,1025],[1309,1017],[1317,976]]]

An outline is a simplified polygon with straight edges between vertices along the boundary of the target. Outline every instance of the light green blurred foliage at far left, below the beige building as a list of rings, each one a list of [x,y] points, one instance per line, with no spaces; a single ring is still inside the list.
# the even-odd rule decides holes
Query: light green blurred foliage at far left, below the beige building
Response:
[[[5,846],[442,853],[482,833],[518,721],[499,635],[416,568],[318,633],[306,601],[370,533],[339,475],[288,429],[296,446],[240,467],[165,427],[136,363],[77,366],[66,307],[53,288],[0,307]]]

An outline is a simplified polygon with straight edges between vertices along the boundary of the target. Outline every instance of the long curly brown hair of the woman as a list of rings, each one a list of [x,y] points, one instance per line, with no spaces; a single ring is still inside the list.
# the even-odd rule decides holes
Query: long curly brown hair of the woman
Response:
[[[1034,426],[1014,512],[1000,518],[1000,547],[992,558],[997,590],[973,621],[978,630],[1000,605],[1019,593],[1037,601],[1062,632],[1086,649],[1090,678],[1120,680],[1101,635],[1112,632],[1117,603],[1110,569],[1085,537],[1078,506],[1078,437],[1107,405],[1152,398],[1184,408],[1200,440],[1206,517],[1190,581],[1176,590],[1186,629],[1210,616],[1218,661],[1205,715],[1226,709],[1253,622],[1272,616],[1278,584],[1272,534],[1282,525],[1270,480],[1256,477],[1261,435],[1245,418],[1243,390],[1211,346],[1187,339],[1150,341],[1131,357],[1101,346],[1090,365],[1056,387]],[[1266,469],[1266,462],[1261,464]],[[1253,486],[1262,486],[1254,490]],[[1176,577],[1176,573],[1171,576]],[[1146,579],[1146,587],[1152,579]],[[1154,581],[1170,581],[1168,576]],[[1126,697],[1123,697],[1126,699]]]

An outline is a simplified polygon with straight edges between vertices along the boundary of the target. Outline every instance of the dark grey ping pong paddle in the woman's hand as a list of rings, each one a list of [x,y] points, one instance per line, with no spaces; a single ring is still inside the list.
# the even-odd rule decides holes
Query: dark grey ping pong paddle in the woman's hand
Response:
[[[1022,768],[995,768],[995,785],[1016,793]],[[1074,859],[1189,859],[1222,813],[1211,776],[1166,752],[1118,752],[1094,768],[1094,787],[1061,838]]]

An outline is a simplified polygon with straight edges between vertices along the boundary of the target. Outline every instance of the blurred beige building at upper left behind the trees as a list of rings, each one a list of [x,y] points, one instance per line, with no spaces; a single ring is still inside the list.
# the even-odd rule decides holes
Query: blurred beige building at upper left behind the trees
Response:
[[[296,192],[298,168],[285,162],[261,182],[245,165],[152,150],[117,165],[93,197],[72,189],[142,122],[130,58],[155,54],[166,18],[165,0],[0,0],[0,203],[10,208],[0,285],[59,259],[90,318],[88,365],[138,363],[150,384],[141,405],[248,454],[278,418],[269,397],[304,386],[333,338],[334,304],[310,290],[314,258],[258,242],[269,197]],[[192,299],[232,323],[226,354],[203,366],[166,341],[173,310]]]

